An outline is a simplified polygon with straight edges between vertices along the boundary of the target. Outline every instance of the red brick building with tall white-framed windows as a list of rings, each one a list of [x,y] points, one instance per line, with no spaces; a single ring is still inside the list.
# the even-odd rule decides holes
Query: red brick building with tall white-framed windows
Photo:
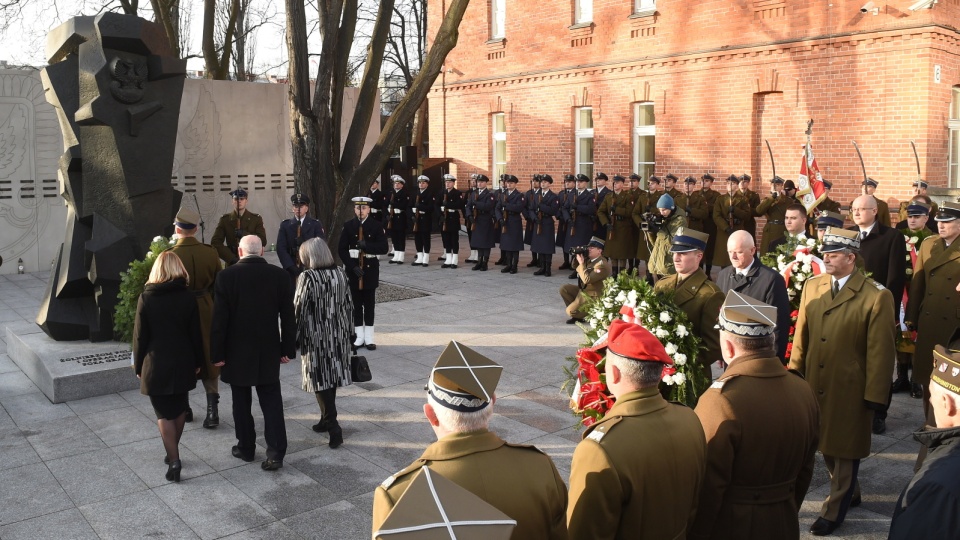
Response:
[[[430,0],[431,35],[448,2]],[[960,0],[918,4],[474,0],[429,96],[430,154],[461,177],[749,172],[763,193],[763,141],[796,178],[813,119],[844,205],[863,179],[852,140],[881,198],[909,198],[911,140],[922,177],[957,187]]]

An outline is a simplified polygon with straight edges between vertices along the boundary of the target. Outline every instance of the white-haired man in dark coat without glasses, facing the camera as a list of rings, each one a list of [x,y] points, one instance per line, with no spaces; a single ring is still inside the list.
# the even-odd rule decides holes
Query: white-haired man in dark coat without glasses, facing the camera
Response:
[[[747,231],[734,231],[727,238],[727,254],[730,255],[730,266],[720,271],[717,286],[724,293],[736,291],[777,308],[776,353],[786,365],[790,312],[793,309],[783,276],[760,262],[753,236]]]

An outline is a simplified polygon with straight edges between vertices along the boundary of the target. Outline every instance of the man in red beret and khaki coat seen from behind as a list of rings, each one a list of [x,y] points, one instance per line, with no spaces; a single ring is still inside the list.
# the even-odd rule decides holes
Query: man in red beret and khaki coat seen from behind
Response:
[[[570,466],[570,538],[685,538],[703,485],[706,442],[697,415],[657,385],[673,361],[638,324],[616,319],[604,373],[616,398],[583,432]]]

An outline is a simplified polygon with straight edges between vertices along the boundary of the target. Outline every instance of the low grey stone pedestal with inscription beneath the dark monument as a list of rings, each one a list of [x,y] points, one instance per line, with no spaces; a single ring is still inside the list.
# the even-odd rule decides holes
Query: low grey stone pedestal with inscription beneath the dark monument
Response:
[[[140,388],[130,346],[118,341],[54,341],[7,328],[7,354],[53,403]]]

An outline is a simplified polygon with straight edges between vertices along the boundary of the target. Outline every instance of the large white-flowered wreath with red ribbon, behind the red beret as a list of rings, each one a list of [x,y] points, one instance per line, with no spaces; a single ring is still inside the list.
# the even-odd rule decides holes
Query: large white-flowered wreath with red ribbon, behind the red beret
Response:
[[[672,401],[689,407],[710,386],[710,375],[696,362],[700,338],[693,335],[687,314],[673,303],[672,295],[654,293],[653,286],[636,272],[621,272],[603,282],[603,293],[585,304],[586,323],[581,324],[585,343],[564,367],[564,388],[571,396],[571,409],[584,426],[603,418],[613,406],[603,375],[603,358],[589,348],[606,335],[610,323],[622,318],[639,324],[663,344],[673,359],[673,368],[664,370],[663,390]]]

